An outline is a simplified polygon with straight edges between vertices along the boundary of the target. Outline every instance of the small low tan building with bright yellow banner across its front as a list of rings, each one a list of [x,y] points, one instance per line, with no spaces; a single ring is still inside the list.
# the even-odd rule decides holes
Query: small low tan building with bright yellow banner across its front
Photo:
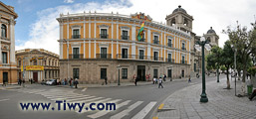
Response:
[[[43,49],[16,51],[18,78],[41,82],[60,78],[59,55]]]

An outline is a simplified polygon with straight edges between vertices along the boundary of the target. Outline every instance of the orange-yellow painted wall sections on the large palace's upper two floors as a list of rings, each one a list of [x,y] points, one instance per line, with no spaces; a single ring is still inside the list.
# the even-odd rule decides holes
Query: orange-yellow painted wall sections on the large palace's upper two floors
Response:
[[[124,22],[125,23],[125,22]],[[131,41],[131,26],[130,25],[125,25],[125,24],[119,24],[119,28],[117,29],[117,24],[116,22],[114,22],[114,26],[112,26],[111,23],[97,23],[96,24],[96,38],[100,38],[100,28],[99,26],[100,25],[108,25],[109,26],[109,29],[108,29],[108,35],[109,35],[109,39],[112,39],[112,30],[114,30],[113,32],[113,38],[114,40],[121,40],[121,36],[122,36],[122,29],[121,27],[123,26],[126,26],[129,28],[129,31],[128,31],[128,36],[129,36],[129,39],[128,41]],[[133,23],[129,23],[129,24],[133,24]],[[84,29],[86,31],[85,35],[86,35],[86,48],[85,48],[85,54],[86,54],[86,59],[89,59],[89,51],[91,51],[91,58],[94,59],[95,58],[95,54],[100,54],[100,46],[99,46],[99,43],[96,44],[96,53],[95,52],[95,44],[94,44],[94,40],[91,42],[91,50],[89,50],[89,23],[86,23],[86,27],[84,28],[84,23],[70,23],[69,24],[69,39],[72,38],[72,26],[73,25],[79,25],[81,26],[81,29],[80,29],[80,34],[81,34],[81,39],[82,40],[77,40],[77,41],[70,41],[70,43],[72,42],[77,42],[77,43],[81,43],[81,49],[80,49],[80,54],[83,55],[84,54]],[[136,24],[136,25],[139,25],[139,24]],[[113,28],[112,28],[113,27]],[[147,26],[148,27],[148,26]],[[137,41],[137,38],[136,38],[136,35],[137,35],[137,32],[138,30],[140,29],[140,25],[139,27],[136,26],[135,27],[135,41]],[[158,28],[154,28],[154,29],[158,29]],[[181,44],[181,41],[185,41],[185,47],[186,47],[186,51],[189,51],[189,40],[187,40],[187,38],[183,38],[183,37],[180,37],[180,42],[178,41],[178,37],[175,37],[174,35],[172,35],[171,33],[165,33],[165,37],[164,37],[164,33],[163,32],[160,32],[158,30],[154,30],[154,29],[150,29],[150,43],[153,45],[153,33],[156,32],[159,34],[159,45],[163,45],[163,46],[167,46],[167,43],[168,43],[168,36],[171,36],[173,39],[172,39],[172,42],[171,44],[173,45],[172,47],[173,48],[176,48],[178,49],[178,46]],[[117,30],[119,31],[119,36],[117,38]],[[144,28],[145,30],[145,43],[147,43],[147,29]],[[177,34],[176,34],[177,36]],[[67,24],[64,24],[63,25],[63,38],[64,39],[68,39],[67,38]],[[94,21],[92,21],[91,23],[91,38],[94,39],[95,38],[95,23]],[[108,54],[112,54],[112,44],[111,44],[111,40],[97,40],[97,42],[101,42],[101,43],[104,43],[104,42],[108,42],[109,44],[109,48],[108,48]],[[164,44],[164,39],[165,39],[165,44]],[[113,42],[113,57],[114,59],[117,58],[117,45],[116,45],[116,41]],[[129,49],[128,49],[128,55],[131,55],[131,45],[130,43],[127,43],[127,42],[119,42],[120,45],[119,45],[119,54],[122,54],[122,48],[121,48],[121,44],[127,44],[129,46]],[[174,44],[175,43],[175,44]],[[145,50],[144,50],[144,56],[147,56],[147,45],[145,45],[144,43],[136,43],[136,45],[139,45],[139,46],[144,46]],[[151,46],[150,48],[150,56],[153,57],[153,47],[156,47],[156,46]],[[181,46],[179,46],[181,48]],[[71,55],[72,54],[72,48],[71,48],[71,45],[70,45],[70,51],[69,51],[69,54]],[[156,47],[157,49],[157,47]],[[159,48],[158,48],[159,49]],[[172,48],[166,48],[166,50],[159,50],[159,58],[162,58],[163,60],[164,59],[167,59],[167,51],[168,50],[172,50],[172,59],[174,59],[176,62],[180,62],[180,59],[179,57],[181,56],[181,54],[178,53],[178,51],[175,52],[175,50],[173,50]],[[180,49],[178,49],[180,50]],[[67,45],[66,44],[63,44],[63,59],[67,59]],[[186,60],[188,61],[189,60],[189,53],[184,53],[183,51],[181,51],[182,54],[185,54],[186,55]],[[137,49],[137,46],[135,47],[135,55],[138,55],[138,49]],[[165,56],[165,58],[164,58]]]

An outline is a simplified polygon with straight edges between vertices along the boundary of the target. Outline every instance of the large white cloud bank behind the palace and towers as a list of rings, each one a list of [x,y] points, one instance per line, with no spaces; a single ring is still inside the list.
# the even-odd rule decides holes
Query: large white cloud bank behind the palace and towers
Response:
[[[250,27],[254,21],[253,15],[256,15],[256,1],[251,0],[120,0],[78,3],[66,6],[57,6],[38,12],[38,20],[31,25],[30,39],[20,46],[17,50],[25,48],[42,48],[56,54],[59,54],[59,23],[56,18],[60,13],[70,14],[83,13],[84,11],[101,13],[115,13],[129,15],[135,12],[143,12],[149,15],[153,21],[165,23],[166,15],[172,13],[178,5],[181,5],[186,12],[193,16],[193,32],[197,36],[205,34],[210,27],[213,27],[219,35],[220,47],[228,37],[221,33],[229,25],[235,25],[238,20],[243,26]]]

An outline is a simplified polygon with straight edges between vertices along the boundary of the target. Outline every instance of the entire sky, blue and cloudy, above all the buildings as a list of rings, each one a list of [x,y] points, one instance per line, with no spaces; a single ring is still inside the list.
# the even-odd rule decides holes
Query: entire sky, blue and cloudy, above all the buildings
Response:
[[[15,26],[16,50],[45,49],[59,54],[60,14],[85,12],[130,15],[142,12],[153,21],[165,22],[166,15],[181,5],[193,16],[193,32],[202,36],[210,29],[219,36],[219,46],[228,40],[227,26],[251,28],[255,22],[256,0],[1,0],[18,14]]]

